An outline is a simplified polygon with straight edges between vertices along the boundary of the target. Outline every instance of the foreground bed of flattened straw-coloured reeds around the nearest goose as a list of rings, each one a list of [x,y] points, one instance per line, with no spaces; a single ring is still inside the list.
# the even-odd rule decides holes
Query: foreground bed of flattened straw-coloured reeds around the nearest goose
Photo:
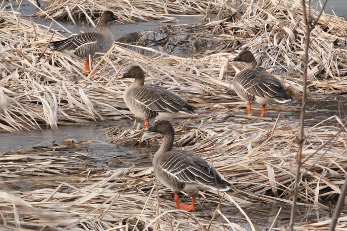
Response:
[[[210,229],[234,227],[243,231],[237,225],[241,221],[244,223],[241,214],[236,215],[240,221],[230,220],[234,219],[233,214],[237,211],[235,203],[241,206],[240,210],[246,209],[247,205],[254,207],[257,203],[290,204],[298,125],[285,120],[279,120],[276,126],[275,122],[269,124],[245,118],[226,120],[228,116],[213,118],[199,129],[196,128],[197,119],[176,120],[174,148],[182,148],[185,139],[191,141],[194,136],[198,138],[198,142],[188,142],[190,145],[185,145],[184,149],[191,149],[213,163],[232,183],[233,189],[224,195],[221,207],[217,210],[221,217],[211,222]],[[336,116],[330,119],[339,120]],[[344,166],[347,165],[347,130],[344,129],[333,138],[339,131],[338,127],[320,124],[306,129],[303,158],[319,151],[303,166],[302,172],[317,161],[302,178],[299,205],[315,203],[326,207],[321,201],[338,195],[346,174]],[[143,136],[143,131],[135,133],[139,138]],[[328,143],[331,138],[333,142]],[[149,143],[161,142],[158,135],[152,133],[146,133],[144,139]],[[321,148],[325,143],[328,146]],[[329,147],[331,143],[334,145]],[[79,151],[71,151],[73,146],[78,147]],[[210,225],[214,208],[220,203],[222,195],[214,191],[204,192],[200,193],[197,200],[196,212],[177,211],[174,209],[172,193],[159,184],[158,219],[152,167],[131,166],[129,163],[130,167],[95,168],[86,165],[91,156],[84,143],[68,142],[54,148],[42,147],[1,155],[1,185],[8,189],[8,193],[0,192],[0,206],[2,221],[6,221],[7,225],[18,223],[32,230],[41,229],[45,225],[67,231],[75,230],[76,227],[81,230],[120,230],[128,227],[132,230],[134,226],[135,230],[145,230],[146,226],[154,230],[157,220],[162,230],[172,230],[172,227],[178,230],[203,230],[201,227]],[[323,153],[325,155],[321,157]],[[23,186],[29,190],[16,189]],[[182,198],[184,202],[189,200],[189,196]],[[263,214],[264,210],[259,213]],[[250,217],[250,220],[255,222],[257,219]],[[322,218],[309,225],[298,224],[296,229],[320,227],[325,230],[329,221],[328,218]],[[347,227],[346,217],[341,217],[340,221],[340,229]],[[281,224],[285,222],[281,221]]]

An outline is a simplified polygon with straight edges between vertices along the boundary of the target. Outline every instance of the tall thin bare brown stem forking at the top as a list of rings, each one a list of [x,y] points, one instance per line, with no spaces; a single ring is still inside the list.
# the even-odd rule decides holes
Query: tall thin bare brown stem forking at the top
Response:
[[[309,1],[311,5],[311,0]],[[307,68],[308,68],[308,50],[310,47],[310,35],[311,31],[315,28],[315,26],[318,23],[318,20],[320,16],[323,13],[323,10],[325,8],[325,5],[327,4],[327,0],[324,0],[323,6],[317,16],[316,19],[313,19],[311,17],[311,8],[309,7],[308,10],[308,17],[307,17],[307,11],[306,11],[306,3],[305,0],[302,0],[302,11],[304,16],[304,21],[306,25],[306,32],[305,32],[305,54],[304,54],[304,69],[303,69],[303,75],[302,75],[302,82],[303,82],[303,91],[302,91],[302,101],[301,101],[301,112],[300,112],[300,130],[299,130],[299,147],[297,150],[297,156],[296,156],[296,171],[295,171],[295,180],[294,180],[294,187],[292,189],[292,204],[291,204],[291,210],[290,210],[290,223],[289,223],[289,231],[293,231],[294,228],[294,218],[295,218],[295,211],[296,211],[296,200],[299,193],[299,182],[300,182],[300,169],[303,164],[301,161],[302,157],[302,148],[305,141],[304,137],[304,125],[305,125],[305,107],[306,107],[306,100],[307,100]]]

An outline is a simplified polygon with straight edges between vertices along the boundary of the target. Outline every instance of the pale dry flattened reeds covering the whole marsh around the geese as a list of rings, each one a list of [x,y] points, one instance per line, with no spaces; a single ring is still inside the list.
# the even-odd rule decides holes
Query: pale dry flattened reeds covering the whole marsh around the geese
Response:
[[[175,148],[192,150],[212,162],[232,183],[233,190],[225,193],[222,201],[222,195],[217,192],[201,193],[197,212],[186,213],[174,209],[171,192],[161,185],[157,204],[152,167],[89,167],[85,163],[90,157],[82,154],[87,153],[85,143],[3,153],[0,156],[0,186],[8,192],[0,192],[0,223],[4,225],[1,230],[41,230],[45,226],[42,230],[171,231],[206,230],[208,227],[210,230],[230,227],[244,230],[238,221],[232,221],[236,210],[241,211],[241,219],[249,223],[250,229],[256,230],[252,217],[247,216],[253,213],[242,208],[254,206],[254,203],[288,205],[291,200],[298,147],[297,116],[292,115],[300,111],[305,46],[300,1],[259,0],[252,7],[245,3],[243,12],[237,12],[232,1],[225,4],[224,1],[121,2],[124,4],[108,0],[107,4],[124,18],[124,23],[154,17],[172,20],[163,14],[205,14],[208,8],[208,13],[218,13],[217,18],[191,29],[195,33],[194,42],[212,39],[214,47],[188,58],[143,48],[155,54],[146,57],[116,44],[93,64],[98,75],[86,78],[81,73],[84,68],[81,60],[60,53],[51,56],[46,53],[38,60],[53,31],[47,32],[48,28],[19,18],[15,12],[5,11],[8,3],[2,2],[1,130],[56,128],[67,122],[107,119],[117,124],[119,119],[132,116],[122,99],[122,92],[130,81],[120,81],[118,77],[129,64],[137,64],[147,71],[147,82],[169,88],[197,108],[199,117],[173,120]],[[74,17],[83,17],[85,13],[97,16],[105,9],[105,1],[68,0],[62,3],[57,0],[37,16],[67,19],[66,6]],[[157,12],[156,16],[153,11]],[[315,15],[314,12],[313,17]],[[175,28],[182,29],[179,25]],[[346,94],[346,28],[343,19],[323,14],[312,32],[308,72],[310,99],[318,101],[329,95],[343,97]],[[54,40],[62,38],[55,33]],[[246,104],[232,91],[232,78],[242,65],[229,63],[228,58],[245,47],[256,55],[261,66],[281,76],[296,99],[289,104],[270,105],[267,115],[275,119],[259,119],[261,109],[256,107],[254,116],[245,116]],[[339,195],[347,166],[346,98],[342,99],[340,115],[305,128],[302,155],[303,158],[313,156],[302,167],[302,173],[311,164],[314,166],[299,185],[299,205],[327,208],[323,202],[335,203]],[[311,110],[308,115],[319,113],[322,112]],[[108,134],[116,136],[114,143],[119,145],[149,143],[152,146],[161,142],[158,135],[136,130],[136,126],[116,126]],[[16,185],[23,181],[33,185],[29,184],[27,190],[17,190]],[[221,206],[215,210],[218,203]],[[241,207],[231,210],[235,206]],[[307,214],[309,212],[307,207]],[[303,213],[303,217],[305,215]],[[286,224],[287,217],[280,214],[281,218]],[[340,219],[337,230],[346,229],[347,217],[342,215]],[[328,214],[311,224],[305,220],[298,219],[294,229],[326,230],[330,223]]]

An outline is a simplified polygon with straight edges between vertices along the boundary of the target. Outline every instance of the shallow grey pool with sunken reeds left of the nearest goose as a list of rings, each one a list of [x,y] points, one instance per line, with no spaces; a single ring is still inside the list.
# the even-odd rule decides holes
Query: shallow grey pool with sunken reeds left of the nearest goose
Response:
[[[140,147],[134,149],[112,144],[110,143],[111,138],[105,135],[109,130],[109,126],[110,124],[106,123],[74,124],[59,126],[56,130],[43,129],[42,131],[0,133],[0,153],[24,153],[33,149],[54,149],[63,141],[73,139],[76,143],[87,142],[87,144],[83,143],[75,149],[85,156],[82,159],[91,168],[116,166],[127,168],[132,165],[149,166],[151,164],[151,159],[147,154],[149,151],[155,151],[155,149],[142,149]],[[131,125],[129,125],[130,127]],[[59,155],[63,155],[63,153],[70,153],[71,148],[59,149],[59,151],[61,152]],[[83,163],[80,166],[82,165]]]

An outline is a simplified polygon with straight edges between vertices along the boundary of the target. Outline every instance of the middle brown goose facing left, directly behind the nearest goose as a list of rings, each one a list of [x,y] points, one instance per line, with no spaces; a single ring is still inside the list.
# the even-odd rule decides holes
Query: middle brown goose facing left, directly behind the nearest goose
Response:
[[[119,77],[134,78],[135,81],[124,91],[123,99],[129,110],[137,117],[145,120],[146,128],[149,127],[149,119],[171,119],[181,114],[197,116],[195,107],[171,91],[152,84],[146,84],[145,73],[139,66],[130,66]]]

